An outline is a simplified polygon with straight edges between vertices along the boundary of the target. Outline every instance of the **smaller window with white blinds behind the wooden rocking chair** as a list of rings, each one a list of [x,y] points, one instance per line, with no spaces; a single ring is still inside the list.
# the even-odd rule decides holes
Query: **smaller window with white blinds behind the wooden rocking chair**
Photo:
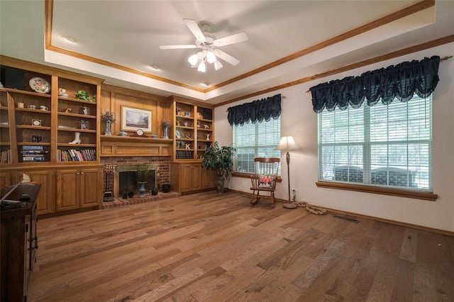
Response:
[[[255,173],[255,157],[280,158],[280,150],[275,150],[280,138],[280,117],[270,118],[270,121],[233,125],[233,146],[236,148],[234,171]]]

